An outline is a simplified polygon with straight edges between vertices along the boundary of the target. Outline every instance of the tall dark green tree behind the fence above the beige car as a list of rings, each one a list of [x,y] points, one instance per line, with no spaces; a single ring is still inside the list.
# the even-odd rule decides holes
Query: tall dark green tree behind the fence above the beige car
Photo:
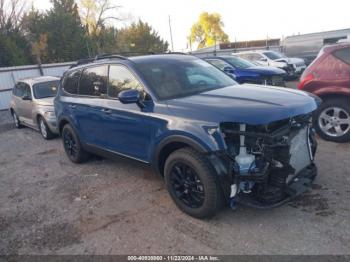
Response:
[[[31,10],[24,17],[26,36],[37,62],[66,62],[88,56],[88,39],[74,0],[53,0],[53,8],[41,14]]]

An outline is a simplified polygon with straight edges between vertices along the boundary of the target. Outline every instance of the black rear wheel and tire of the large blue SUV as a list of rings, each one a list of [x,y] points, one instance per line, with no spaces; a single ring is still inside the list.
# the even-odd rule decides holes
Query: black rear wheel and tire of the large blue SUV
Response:
[[[66,124],[62,129],[62,141],[70,161],[79,164],[88,160],[89,153],[83,149],[78,135],[69,124]]]

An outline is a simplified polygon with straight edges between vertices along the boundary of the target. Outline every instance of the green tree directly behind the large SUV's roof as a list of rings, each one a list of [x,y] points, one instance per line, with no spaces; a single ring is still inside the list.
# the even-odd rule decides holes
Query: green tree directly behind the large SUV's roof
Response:
[[[141,20],[120,29],[117,35],[117,48],[120,52],[157,53],[168,51],[168,47],[168,42],[161,39],[148,23]]]

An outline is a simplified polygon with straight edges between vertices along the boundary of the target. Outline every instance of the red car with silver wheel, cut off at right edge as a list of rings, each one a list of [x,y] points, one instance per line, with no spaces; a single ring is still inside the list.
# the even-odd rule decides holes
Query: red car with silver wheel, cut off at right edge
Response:
[[[298,88],[323,100],[314,115],[317,133],[329,141],[350,141],[350,43],[324,47]]]

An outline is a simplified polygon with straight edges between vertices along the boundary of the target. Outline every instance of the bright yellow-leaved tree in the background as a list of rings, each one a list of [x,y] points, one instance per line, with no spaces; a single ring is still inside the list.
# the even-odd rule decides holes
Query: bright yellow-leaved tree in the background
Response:
[[[198,43],[197,48],[228,42],[229,38],[222,29],[223,26],[220,14],[204,12],[199,16],[199,20],[192,25],[189,39],[191,43]]]

